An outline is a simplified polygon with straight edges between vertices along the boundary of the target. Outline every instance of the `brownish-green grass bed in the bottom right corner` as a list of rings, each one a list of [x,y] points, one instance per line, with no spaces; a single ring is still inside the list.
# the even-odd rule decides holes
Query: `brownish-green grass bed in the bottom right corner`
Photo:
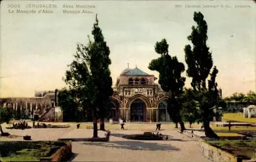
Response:
[[[254,150],[256,149],[255,140],[207,141],[207,143],[231,154],[240,155],[244,159],[254,158]]]

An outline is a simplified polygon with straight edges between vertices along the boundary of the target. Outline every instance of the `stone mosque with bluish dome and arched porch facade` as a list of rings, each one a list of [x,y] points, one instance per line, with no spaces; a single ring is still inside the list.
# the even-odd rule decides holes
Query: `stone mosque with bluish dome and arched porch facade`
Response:
[[[167,93],[155,83],[157,78],[137,66],[124,69],[113,87],[109,118],[126,122],[170,121],[167,113]]]

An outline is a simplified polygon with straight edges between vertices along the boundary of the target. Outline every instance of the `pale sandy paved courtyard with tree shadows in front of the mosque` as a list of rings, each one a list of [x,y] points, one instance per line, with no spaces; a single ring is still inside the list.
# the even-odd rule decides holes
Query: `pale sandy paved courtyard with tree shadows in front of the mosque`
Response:
[[[32,140],[57,140],[58,138],[90,138],[92,129],[41,128],[15,130],[5,129],[15,136],[30,135]],[[143,133],[141,130],[111,130],[109,143],[72,142],[73,156],[70,161],[210,161],[200,153],[199,142],[176,129],[165,129],[162,134],[171,136],[167,141],[138,141],[121,138],[125,134]],[[104,137],[104,131],[98,131]],[[22,137],[0,138],[3,140],[22,140]]]

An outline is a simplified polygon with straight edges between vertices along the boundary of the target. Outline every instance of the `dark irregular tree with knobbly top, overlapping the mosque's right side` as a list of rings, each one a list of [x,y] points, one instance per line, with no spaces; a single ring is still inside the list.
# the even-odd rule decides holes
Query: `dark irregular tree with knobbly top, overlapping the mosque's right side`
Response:
[[[183,131],[184,123],[180,114],[180,95],[185,82],[185,77],[182,77],[181,73],[185,70],[185,67],[176,56],[171,57],[169,55],[168,47],[166,39],[156,43],[155,51],[161,57],[152,60],[148,69],[159,72],[158,83],[164,92],[171,94],[167,99],[167,112],[175,123],[180,123],[181,131]]]

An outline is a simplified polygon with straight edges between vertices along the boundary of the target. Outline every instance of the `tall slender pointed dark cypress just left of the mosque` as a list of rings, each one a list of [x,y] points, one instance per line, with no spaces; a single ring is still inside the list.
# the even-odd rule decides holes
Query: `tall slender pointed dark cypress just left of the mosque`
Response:
[[[94,84],[97,87],[96,103],[99,108],[100,117],[100,130],[104,130],[104,116],[108,109],[108,103],[110,97],[113,95],[112,89],[112,77],[109,66],[111,65],[110,60],[110,49],[104,41],[104,37],[101,29],[98,25],[98,19],[96,16],[96,23],[94,23],[92,35],[94,36],[94,49],[91,55],[91,72],[94,79]],[[99,61],[99,62],[97,62]]]

